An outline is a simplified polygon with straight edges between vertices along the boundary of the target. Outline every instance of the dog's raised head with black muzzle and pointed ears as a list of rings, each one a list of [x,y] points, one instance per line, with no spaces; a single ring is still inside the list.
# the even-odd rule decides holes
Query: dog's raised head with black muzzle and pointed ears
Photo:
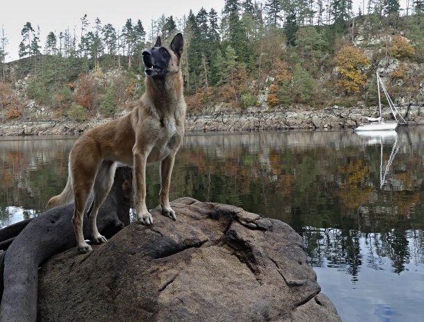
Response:
[[[169,47],[161,46],[161,37],[158,37],[154,47],[141,54],[146,76],[165,78],[169,73],[177,73],[183,46],[184,40],[181,33],[175,35]]]

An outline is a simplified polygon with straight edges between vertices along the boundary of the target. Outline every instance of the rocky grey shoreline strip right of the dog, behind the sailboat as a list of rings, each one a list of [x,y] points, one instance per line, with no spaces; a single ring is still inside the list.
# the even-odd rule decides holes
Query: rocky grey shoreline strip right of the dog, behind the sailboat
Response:
[[[424,124],[424,105],[403,105],[399,112],[409,124]],[[247,108],[242,112],[220,111],[213,115],[188,115],[186,131],[249,131],[332,128],[355,128],[364,117],[378,117],[375,108],[343,108],[332,106],[323,110],[284,108]],[[382,116],[393,119],[390,108],[384,108]]]

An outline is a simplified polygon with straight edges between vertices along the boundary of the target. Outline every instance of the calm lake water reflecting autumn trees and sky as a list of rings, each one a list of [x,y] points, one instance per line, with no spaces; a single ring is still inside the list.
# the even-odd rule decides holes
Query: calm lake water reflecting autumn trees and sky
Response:
[[[0,137],[0,227],[35,217],[67,180],[76,137]],[[229,203],[304,238],[343,321],[422,321],[424,128],[397,135],[188,135],[170,198]],[[147,169],[158,205],[158,165]]]

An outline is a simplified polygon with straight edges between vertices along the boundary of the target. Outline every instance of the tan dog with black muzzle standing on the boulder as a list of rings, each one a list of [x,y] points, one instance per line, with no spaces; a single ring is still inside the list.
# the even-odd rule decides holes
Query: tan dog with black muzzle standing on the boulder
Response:
[[[178,33],[170,46],[161,46],[161,37],[158,37],[152,49],[142,51],[146,79],[145,93],[139,105],[119,119],[88,130],[76,140],[70,151],[65,189],[52,197],[47,206],[56,207],[74,201],[72,223],[81,253],[92,250],[83,236],[83,214],[91,192],[93,201],[88,217],[92,242],[106,242],[97,230],[96,218],[112,187],[117,162],[133,167],[134,210],[138,222],[145,225],[153,223],[145,200],[146,164],[161,162],[162,214],[176,220],[169,191],[186,117],[181,72],[183,46],[183,36]]]

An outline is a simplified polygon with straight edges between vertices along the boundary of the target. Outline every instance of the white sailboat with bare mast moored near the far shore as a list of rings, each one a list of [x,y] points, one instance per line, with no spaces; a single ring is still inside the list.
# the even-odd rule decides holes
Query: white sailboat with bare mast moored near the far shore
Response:
[[[380,75],[378,73],[375,73],[377,75],[377,89],[378,89],[378,106],[380,108],[380,117],[366,117],[368,121],[371,123],[369,124],[361,124],[357,128],[354,129],[355,132],[359,131],[380,131],[380,130],[396,130],[399,124],[407,124],[405,119],[400,115],[400,112],[396,108],[396,105],[393,103],[389,96],[389,92],[387,92],[386,87],[384,86],[382,79],[380,78]],[[391,109],[391,112],[393,114],[393,117],[395,117],[394,122],[386,123],[382,117],[382,101],[380,99],[380,88],[384,92],[384,95],[386,96],[387,102],[389,102],[389,106]]]

